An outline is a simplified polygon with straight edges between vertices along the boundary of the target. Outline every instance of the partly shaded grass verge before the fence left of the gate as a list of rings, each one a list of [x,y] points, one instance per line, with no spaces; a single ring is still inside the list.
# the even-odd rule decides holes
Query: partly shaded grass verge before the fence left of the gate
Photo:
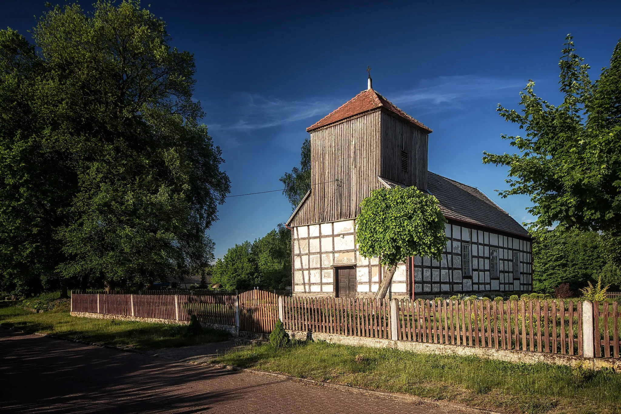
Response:
[[[21,304],[2,301],[0,323],[25,331],[140,350],[173,348],[230,338],[229,333],[214,329],[204,329],[201,335],[188,337],[184,325],[72,317],[68,300],[56,298],[52,295],[37,299],[37,307],[50,309],[43,313],[30,312]],[[30,300],[25,305],[32,307],[34,302]]]

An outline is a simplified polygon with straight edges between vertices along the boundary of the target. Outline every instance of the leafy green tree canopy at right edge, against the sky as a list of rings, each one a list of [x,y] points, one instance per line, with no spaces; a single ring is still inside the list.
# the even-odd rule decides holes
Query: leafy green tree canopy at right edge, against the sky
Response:
[[[566,37],[560,66],[563,103],[535,94],[533,81],[520,92],[521,113],[498,107],[501,117],[525,131],[502,135],[518,153],[484,153],[483,163],[509,167],[512,194],[530,196],[535,226],[621,232],[621,40],[610,66],[592,82],[589,66]]]

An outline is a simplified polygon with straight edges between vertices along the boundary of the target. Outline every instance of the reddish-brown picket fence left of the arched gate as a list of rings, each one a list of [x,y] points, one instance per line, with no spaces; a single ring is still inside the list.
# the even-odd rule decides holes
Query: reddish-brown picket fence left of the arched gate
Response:
[[[231,294],[72,294],[73,312],[105,313],[140,318],[235,325],[235,295]]]

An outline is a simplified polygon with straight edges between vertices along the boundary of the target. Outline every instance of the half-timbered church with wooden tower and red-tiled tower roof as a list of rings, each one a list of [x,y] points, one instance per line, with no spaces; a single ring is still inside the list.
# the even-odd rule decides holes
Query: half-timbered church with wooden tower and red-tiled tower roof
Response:
[[[390,297],[532,290],[532,240],[478,189],[427,171],[432,130],[368,89],[311,127],[311,190],[287,225],[293,294],[372,296],[383,269],[356,244],[360,203],[380,187],[416,186],[446,218],[442,261],[413,257],[392,277]]]

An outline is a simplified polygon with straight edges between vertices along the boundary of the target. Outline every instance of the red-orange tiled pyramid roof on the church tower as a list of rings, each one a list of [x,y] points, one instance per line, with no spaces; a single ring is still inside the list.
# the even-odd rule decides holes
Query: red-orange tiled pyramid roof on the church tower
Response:
[[[414,125],[415,127],[421,128],[422,130],[427,131],[427,133],[432,132],[432,130],[425,125],[421,124],[419,121],[410,117],[410,115],[403,112],[401,109],[397,108],[392,104],[392,102],[388,101],[385,97],[378,94],[378,92],[373,89],[366,89],[366,91],[362,91],[350,101],[345,102],[342,106],[330,112],[330,114],[325,115],[322,119],[317,121],[315,124],[306,128],[307,132],[311,132],[317,128],[325,127],[326,125],[334,124],[335,122],[341,121],[343,119],[347,119],[349,117],[353,117],[355,115],[362,114],[363,112],[368,112],[369,110],[374,110],[378,108],[383,108],[391,112],[391,114],[396,115],[397,117],[409,122],[409,124]]]

